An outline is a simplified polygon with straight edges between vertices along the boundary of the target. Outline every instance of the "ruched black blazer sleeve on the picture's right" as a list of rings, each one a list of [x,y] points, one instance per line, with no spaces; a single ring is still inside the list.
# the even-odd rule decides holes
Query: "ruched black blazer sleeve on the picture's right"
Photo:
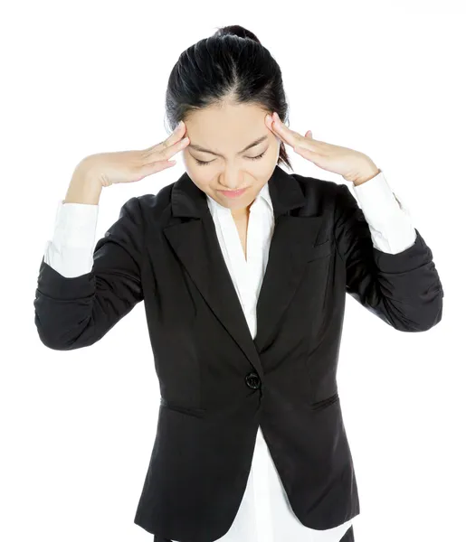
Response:
[[[401,332],[425,332],[442,320],[443,288],[433,254],[418,229],[396,254],[375,248],[363,211],[337,184],[334,237],[346,268],[347,294]]]

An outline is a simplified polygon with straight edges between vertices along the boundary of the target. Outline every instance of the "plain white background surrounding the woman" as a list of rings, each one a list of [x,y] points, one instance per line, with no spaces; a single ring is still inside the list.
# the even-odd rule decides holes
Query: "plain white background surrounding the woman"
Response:
[[[2,12],[0,539],[153,540],[133,523],[159,402],[143,304],[92,347],[55,351],[39,340],[33,298],[75,165],[165,139],[179,54],[241,24],[281,65],[290,127],[357,149],[385,173],[445,293],[442,322],[420,333],[396,332],[347,297],[338,388],[361,502],[356,540],[466,540],[461,2],[43,0]],[[344,182],[287,149],[295,173]],[[175,159],[103,190],[97,238],[131,196],[176,181]]]

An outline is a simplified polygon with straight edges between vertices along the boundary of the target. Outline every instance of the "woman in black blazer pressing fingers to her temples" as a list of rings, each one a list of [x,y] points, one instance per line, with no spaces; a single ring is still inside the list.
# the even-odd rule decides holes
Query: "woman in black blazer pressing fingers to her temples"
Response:
[[[35,323],[52,349],[99,341],[145,302],[161,401],[135,522],[156,542],[255,542],[254,504],[276,542],[354,540],[336,381],[345,296],[399,331],[442,318],[432,252],[383,173],[291,130],[287,112],[254,34],[225,27],[188,48],[166,91],[173,134],[81,161],[40,267]],[[285,173],[285,145],[352,182],[362,209],[344,184]],[[127,201],[92,250],[101,190],[180,151],[186,173]],[[254,483],[267,500],[254,503]]]

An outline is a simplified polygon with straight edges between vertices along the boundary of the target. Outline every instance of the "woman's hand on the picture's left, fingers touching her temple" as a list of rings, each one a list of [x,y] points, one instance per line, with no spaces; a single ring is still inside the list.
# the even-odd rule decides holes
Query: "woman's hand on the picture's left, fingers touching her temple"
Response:
[[[140,151],[90,154],[81,164],[90,168],[102,186],[138,182],[147,175],[161,172],[176,164],[175,160],[169,159],[189,145],[189,137],[182,139],[185,131],[185,123],[181,121],[162,143]]]

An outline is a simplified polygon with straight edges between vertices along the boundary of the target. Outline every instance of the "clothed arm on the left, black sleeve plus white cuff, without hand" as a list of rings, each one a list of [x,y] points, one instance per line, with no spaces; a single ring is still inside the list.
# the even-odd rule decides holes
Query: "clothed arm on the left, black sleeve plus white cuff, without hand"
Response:
[[[92,211],[90,205],[79,206],[81,219],[86,215],[89,221],[80,234],[76,205],[63,203],[59,208],[33,302],[39,337],[53,350],[72,350],[99,341],[143,299],[143,232],[138,198],[123,205],[119,220],[98,240],[93,254],[90,230],[94,228],[95,232],[97,210]]]

